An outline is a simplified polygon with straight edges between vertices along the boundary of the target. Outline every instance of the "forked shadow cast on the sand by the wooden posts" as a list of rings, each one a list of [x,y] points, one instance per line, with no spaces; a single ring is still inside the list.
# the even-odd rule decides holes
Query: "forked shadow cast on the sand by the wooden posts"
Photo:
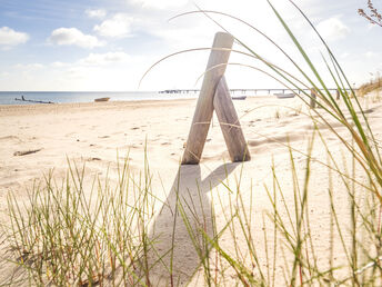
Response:
[[[153,258],[158,260],[158,255],[165,255],[162,263],[157,264],[151,273],[154,277],[158,276],[153,278],[152,284],[182,285],[201,266],[200,257],[177,207],[177,198],[182,204],[192,230],[197,232],[197,228],[202,227],[211,237],[213,234],[212,210],[208,192],[220,185],[239,165],[224,164],[204,179],[201,178],[200,166],[180,167],[167,204],[161,208],[150,232],[151,239],[155,241],[157,255]],[[222,189],[222,191],[227,190]],[[200,234],[197,239],[201,239]]]

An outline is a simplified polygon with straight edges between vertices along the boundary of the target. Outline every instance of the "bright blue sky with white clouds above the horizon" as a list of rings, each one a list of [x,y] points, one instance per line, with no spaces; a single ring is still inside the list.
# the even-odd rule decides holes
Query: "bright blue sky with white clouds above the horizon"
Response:
[[[382,3],[374,1],[380,11]],[[328,58],[303,17],[288,0],[271,0],[303,44],[323,78]],[[351,85],[382,73],[382,28],[358,14],[366,0],[295,0],[325,39]],[[198,89],[209,48],[222,28],[199,9],[230,13],[263,31],[303,69],[302,57],[267,0],[0,0],[0,90],[132,91]],[[210,14],[268,61],[299,73],[280,51],[248,26]],[[233,49],[242,50],[239,44]],[[255,68],[255,59],[231,53],[231,63]],[[230,65],[230,88],[279,88],[281,83],[253,68]]]

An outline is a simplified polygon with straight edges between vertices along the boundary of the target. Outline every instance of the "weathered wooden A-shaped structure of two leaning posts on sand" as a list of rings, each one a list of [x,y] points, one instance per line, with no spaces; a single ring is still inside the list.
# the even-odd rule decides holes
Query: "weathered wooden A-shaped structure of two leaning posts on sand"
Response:
[[[231,34],[224,32],[215,34],[187,140],[182,165],[199,164],[213,110],[217,112],[231,160],[237,162],[251,159],[224,78],[232,44],[233,37]]]

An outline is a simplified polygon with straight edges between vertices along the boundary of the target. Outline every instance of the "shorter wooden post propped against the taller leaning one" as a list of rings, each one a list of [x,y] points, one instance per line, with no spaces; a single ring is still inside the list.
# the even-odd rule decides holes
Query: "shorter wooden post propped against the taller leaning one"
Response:
[[[213,98],[213,107],[224,136],[231,161],[237,162],[250,160],[251,155],[248,150],[247,141],[224,76],[218,85],[217,92]]]

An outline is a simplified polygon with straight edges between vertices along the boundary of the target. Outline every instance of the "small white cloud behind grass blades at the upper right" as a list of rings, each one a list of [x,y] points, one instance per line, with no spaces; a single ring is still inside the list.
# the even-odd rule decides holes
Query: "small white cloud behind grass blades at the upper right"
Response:
[[[329,18],[321,21],[316,26],[318,31],[321,33],[323,39],[328,41],[335,41],[345,38],[350,33],[350,28],[346,27],[338,18]]]

